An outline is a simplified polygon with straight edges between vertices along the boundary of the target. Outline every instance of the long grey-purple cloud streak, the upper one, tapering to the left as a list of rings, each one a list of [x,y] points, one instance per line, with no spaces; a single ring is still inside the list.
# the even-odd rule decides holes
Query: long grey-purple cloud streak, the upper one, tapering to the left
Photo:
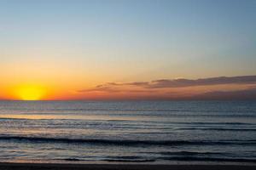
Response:
[[[105,84],[97,85],[95,88],[79,90],[79,93],[84,92],[121,92],[127,90],[126,88],[143,88],[143,90],[150,91],[150,89],[157,88],[188,88],[195,86],[212,86],[224,84],[256,84],[256,76],[242,76],[242,77],[210,77],[200,79],[160,79],[152,82],[107,82]],[[123,88],[121,88],[123,87]],[[130,89],[131,90],[131,89]],[[142,90],[142,89],[141,89]]]

